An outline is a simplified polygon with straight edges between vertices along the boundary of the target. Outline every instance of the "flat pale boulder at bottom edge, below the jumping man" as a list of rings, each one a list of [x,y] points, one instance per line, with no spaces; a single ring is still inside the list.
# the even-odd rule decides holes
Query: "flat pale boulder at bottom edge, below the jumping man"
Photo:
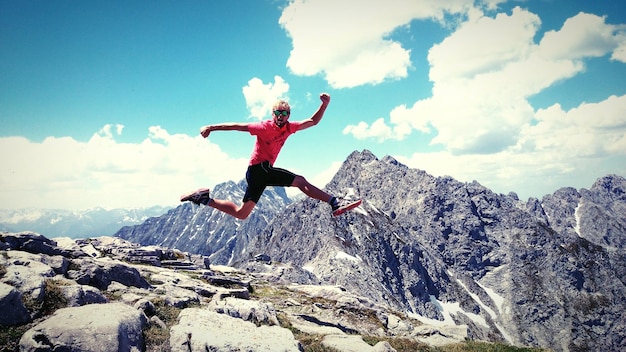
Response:
[[[228,333],[225,333],[228,331]],[[291,331],[255,324],[200,308],[184,309],[170,329],[172,352],[300,351]]]

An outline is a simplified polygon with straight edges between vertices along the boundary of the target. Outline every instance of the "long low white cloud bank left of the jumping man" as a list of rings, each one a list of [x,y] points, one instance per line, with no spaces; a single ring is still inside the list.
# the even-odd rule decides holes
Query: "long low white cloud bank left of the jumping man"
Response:
[[[122,129],[106,125],[87,142],[70,137],[49,137],[40,143],[0,138],[0,149],[16,151],[0,156],[1,206],[176,205],[184,192],[244,176],[247,159],[233,159],[200,136],[172,135],[153,126],[141,143],[122,143],[114,137]]]

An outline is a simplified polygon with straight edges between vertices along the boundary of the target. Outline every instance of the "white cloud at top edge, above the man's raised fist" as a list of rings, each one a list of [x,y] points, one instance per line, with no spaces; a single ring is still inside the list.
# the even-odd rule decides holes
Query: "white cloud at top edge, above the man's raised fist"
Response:
[[[419,18],[441,20],[473,0],[296,0],[279,23],[292,39],[287,66],[297,75],[323,74],[334,88],[376,84],[407,76],[410,50],[389,39]],[[367,67],[367,70],[363,70]]]

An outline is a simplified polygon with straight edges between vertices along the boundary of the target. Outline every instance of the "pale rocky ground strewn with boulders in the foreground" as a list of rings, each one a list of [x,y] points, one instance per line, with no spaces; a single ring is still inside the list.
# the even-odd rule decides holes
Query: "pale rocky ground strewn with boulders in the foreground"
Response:
[[[432,350],[466,337],[337,286],[119,238],[0,233],[3,351]],[[264,270],[259,270],[264,269]]]

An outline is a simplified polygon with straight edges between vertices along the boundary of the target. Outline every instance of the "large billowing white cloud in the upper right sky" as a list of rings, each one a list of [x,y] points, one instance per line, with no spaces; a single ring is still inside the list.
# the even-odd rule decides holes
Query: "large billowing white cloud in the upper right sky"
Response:
[[[520,131],[535,120],[529,97],[583,72],[584,58],[611,51],[619,57],[624,37],[623,26],[581,13],[536,44],[540,24],[537,15],[521,8],[510,15],[470,17],[429,51],[431,97],[395,108],[389,125],[378,119],[385,133],[366,122],[348,126],[344,133],[359,139],[403,139],[408,128],[432,127],[437,135],[431,143],[453,154],[490,154],[515,145]]]

